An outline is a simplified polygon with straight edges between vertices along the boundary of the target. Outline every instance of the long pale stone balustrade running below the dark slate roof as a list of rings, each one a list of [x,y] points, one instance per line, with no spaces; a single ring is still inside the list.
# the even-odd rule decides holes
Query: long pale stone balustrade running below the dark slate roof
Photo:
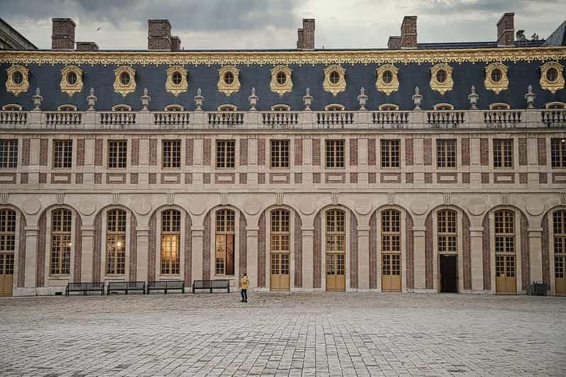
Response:
[[[423,111],[0,111],[2,129],[544,129],[566,109]]]

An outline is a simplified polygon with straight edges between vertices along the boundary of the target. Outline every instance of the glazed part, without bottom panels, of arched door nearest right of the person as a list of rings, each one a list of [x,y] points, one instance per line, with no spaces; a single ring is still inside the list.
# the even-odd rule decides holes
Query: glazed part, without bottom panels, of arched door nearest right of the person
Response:
[[[271,212],[271,273],[289,275],[289,211],[274,209]]]

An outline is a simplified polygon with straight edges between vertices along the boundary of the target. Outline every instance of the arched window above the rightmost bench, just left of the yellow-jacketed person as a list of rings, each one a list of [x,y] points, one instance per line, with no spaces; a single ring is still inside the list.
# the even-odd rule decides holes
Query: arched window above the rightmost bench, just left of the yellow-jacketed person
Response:
[[[234,217],[231,209],[216,212],[216,275],[234,274]]]

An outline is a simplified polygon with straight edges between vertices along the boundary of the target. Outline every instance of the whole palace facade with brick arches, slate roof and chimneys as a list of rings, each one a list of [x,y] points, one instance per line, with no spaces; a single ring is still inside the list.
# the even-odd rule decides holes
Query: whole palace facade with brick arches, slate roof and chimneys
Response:
[[[388,48],[0,50],[0,290],[227,278],[252,290],[566,295],[566,23]]]

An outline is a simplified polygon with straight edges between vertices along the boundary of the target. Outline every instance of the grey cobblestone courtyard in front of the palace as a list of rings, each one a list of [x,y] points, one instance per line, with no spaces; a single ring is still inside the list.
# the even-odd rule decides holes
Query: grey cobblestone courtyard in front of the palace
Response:
[[[0,373],[564,375],[566,299],[236,293],[0,300]]]

